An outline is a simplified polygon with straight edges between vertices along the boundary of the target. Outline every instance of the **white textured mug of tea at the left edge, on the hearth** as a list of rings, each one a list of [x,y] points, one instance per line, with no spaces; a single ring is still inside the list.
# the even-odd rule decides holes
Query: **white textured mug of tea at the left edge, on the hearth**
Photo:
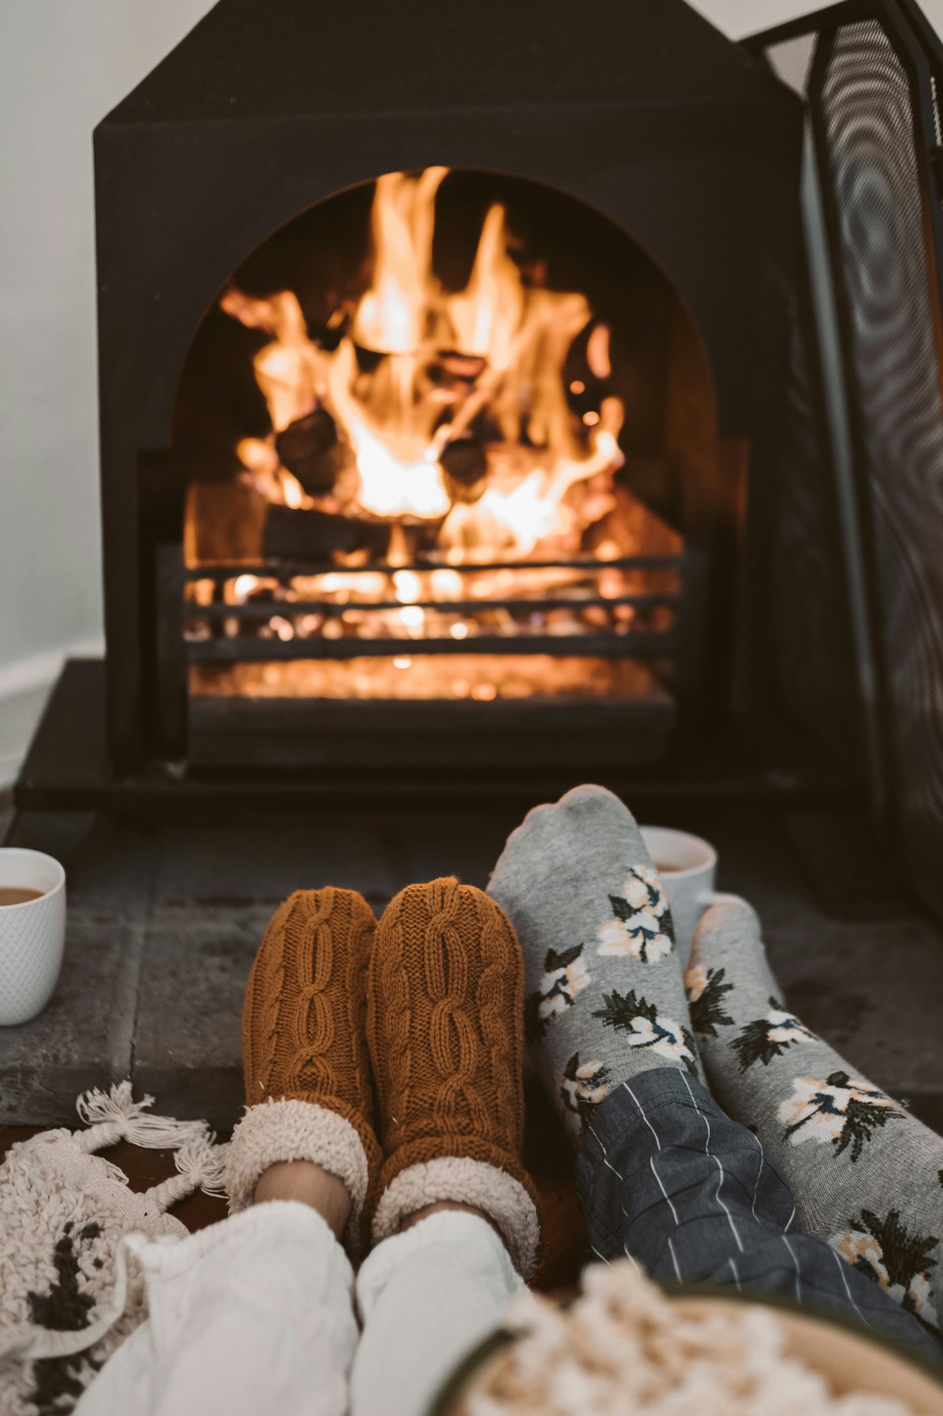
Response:
[[[65,871],[42,851],[0,848],[0,1027],[52,997],[65,946]]]

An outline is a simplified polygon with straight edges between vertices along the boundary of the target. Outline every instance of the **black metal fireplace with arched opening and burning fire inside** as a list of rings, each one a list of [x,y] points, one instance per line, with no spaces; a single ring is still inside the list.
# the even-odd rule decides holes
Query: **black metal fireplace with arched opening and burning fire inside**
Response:
[[[681,3],[365,33],[221,0],[96,130],[115,769],[657,773],[715,742],[800,140]]]

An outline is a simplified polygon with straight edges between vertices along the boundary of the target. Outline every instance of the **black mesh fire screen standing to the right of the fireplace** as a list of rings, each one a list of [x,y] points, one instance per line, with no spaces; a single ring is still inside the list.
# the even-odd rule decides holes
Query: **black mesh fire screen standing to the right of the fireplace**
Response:
[[[896,3],[836,6],[755,44],[807,102],[810,303],[874,794],[943,912],[942,50]],[[807,428],[802,402],[792,452],[806,481],[821,445]],[[834,715],[834,698],[824,707]]]

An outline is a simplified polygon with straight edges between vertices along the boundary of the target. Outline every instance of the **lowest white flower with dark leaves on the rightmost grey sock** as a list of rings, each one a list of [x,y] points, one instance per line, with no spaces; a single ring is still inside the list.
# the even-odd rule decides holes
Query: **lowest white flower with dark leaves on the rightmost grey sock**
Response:
[[[871,1209],[862,1209],[844,1233],[833,1235],[828,1242],[902,1308],[939,1328],[939,1317],[930,1303],[929,1276],[936,1267],[936,1259],[930,1257],[940,1242],[936,1235],[909,1231],[901,1222],[899,1209],[888,1211],[884,1219]]]

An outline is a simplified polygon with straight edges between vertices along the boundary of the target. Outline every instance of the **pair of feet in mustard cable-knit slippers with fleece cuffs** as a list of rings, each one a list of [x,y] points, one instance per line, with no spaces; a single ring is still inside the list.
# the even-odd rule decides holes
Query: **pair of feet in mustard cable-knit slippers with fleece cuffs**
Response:
[[[230,1208],[308,1199],[352,1253],[433,1206],[472,1208],[532,1273],[522,1008],[515,932],[481,891],[410,885],[379,922],[353,891],[294,893],[246,988]]]

